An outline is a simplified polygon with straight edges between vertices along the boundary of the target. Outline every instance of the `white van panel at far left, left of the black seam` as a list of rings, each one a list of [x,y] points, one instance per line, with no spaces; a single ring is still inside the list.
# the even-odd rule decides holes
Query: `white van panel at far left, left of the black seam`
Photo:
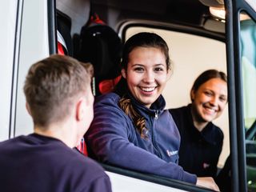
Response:
[[[0,70],[1,87],[1,115],[0,115],[0,141],[9,137],[10,127],[10,102],[12,75],[14,67],[14,48],[16,38],[16,19],[18,2],[15,0],[2,1],[0,6],[0,58],[2,60]],[[7,19],[6,19],[7,18]],[[3,30],[5,29],[5,30]]]

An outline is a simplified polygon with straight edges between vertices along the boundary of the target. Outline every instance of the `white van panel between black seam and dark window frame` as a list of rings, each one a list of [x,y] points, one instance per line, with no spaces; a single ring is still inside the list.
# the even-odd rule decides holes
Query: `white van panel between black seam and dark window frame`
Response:
[[[31,64],[49,55],[47,19],[46,0],[24,0],[18,62],[16,117],[14,119],[15,130],[11,130],[11,137],[33,132],[32,120],[26,111],[23,85]]]

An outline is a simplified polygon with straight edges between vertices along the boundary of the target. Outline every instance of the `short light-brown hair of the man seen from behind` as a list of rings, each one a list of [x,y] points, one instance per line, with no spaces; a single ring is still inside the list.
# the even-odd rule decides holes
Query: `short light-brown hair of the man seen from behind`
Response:
[[[34,125],[47,127],[65,119],[75,99],[89,88],[90,75],[74,58],[54,54],[34,63],[24,86]]]

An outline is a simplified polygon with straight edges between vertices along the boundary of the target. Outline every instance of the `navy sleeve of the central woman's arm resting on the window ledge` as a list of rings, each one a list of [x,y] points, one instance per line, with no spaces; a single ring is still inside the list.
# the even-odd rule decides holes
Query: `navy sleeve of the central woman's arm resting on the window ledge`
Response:
[[[158,156],[134,146],[128,139],[129,134],[128,117],[118,106],[107,102],[96,104],[94,121],[86,133],[86,143],[98,161],[142,173],[196,183],[196,175],[187,173],[181,166],[165,162]]]

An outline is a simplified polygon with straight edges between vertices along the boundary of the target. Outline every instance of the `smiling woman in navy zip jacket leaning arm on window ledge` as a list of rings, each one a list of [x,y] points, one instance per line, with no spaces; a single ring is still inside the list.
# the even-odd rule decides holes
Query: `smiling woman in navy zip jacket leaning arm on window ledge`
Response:
[[[162,97],[169,77],[169,49],[158,34],[144,32],[129,38],[115,92],[96,98],[94,121],[86,134],[89,155],[122,168],[218,190],[213,178],[197,178],[177,164],[180,136]]]

